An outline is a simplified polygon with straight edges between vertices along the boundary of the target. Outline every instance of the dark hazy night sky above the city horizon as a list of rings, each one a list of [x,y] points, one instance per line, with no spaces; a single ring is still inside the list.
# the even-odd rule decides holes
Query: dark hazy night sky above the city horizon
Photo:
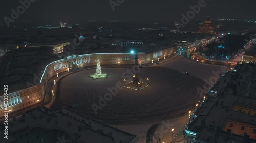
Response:
[[[22,0],[24,1],[24,0]],[[117,1],[117,0],[113,0]],[[186,14],[189,6],[198,5],[198,0],[124,0],[120,6],[112,10],[109,0],[36,0],[25,10],[16,21],[28,20],[33,23],[51,24],[53,21],[65,21],[67,23],[83,23],[90,19],[109,20],[109,19],[133,19],[150,20],[156,22],[180,21],[181,14]],[[206,6],[201,8],[196,19],[210,18],[237,18],[237,19],[256,19],[255,0],[207,0]],[[17,9],[21,4],[19,1],[1,2],[1,23],[4,17],[11,16],[11,9]]]

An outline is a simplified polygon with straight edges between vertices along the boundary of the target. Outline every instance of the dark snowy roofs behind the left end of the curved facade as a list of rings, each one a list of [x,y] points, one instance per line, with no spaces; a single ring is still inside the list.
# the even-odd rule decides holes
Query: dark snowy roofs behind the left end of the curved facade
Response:
[[[36,47],[7,52],[0,60],[0,85],[8,85],[8,92],[15,92],[28,88],[27,83],[39,84],[34,81],[40,78],[44,66],[58,59],[53,58],[52,50],[51,47]]]

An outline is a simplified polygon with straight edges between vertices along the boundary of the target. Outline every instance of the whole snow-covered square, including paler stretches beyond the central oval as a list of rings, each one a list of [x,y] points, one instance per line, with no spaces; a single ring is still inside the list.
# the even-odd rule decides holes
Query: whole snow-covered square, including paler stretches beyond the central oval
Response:
[[[208,81],[212,76],[216,76],[213,72],[222,71],[221,68],[219,65],[195,62],[182,56],[172,60],[166,58],[159,64],[141,68],[139,77],[150,78],[150,87],[142,91],[126,88],[118,90],[112,100],[97,110],[97,114],[92,109],[92,103],[99,105],[98,96],[103,97],[109,92],[108,87],[115,87],[118,81],[123,82],[122,74],[131,68],[102,68],[102,73],[110,74],[109,78],[97,80],[87,77],[95,73],[95,69],[81,71],[62,80],[60,96],[55,106],[72,106],[90,117],[136,134],[140,138],[138,143],[145,141],[146,133],[152,124],[160,123],[161,128],[162,122],[167,122],[167,119],[174,124],[175,136],[186,124],[187,112],[198,99],[196,88],[203,84],[201,80]],[[186,71],[190,76],[181,73]],[[161,142],[169,143],[171,131],[158,137]],[[179,136],[179,140],[181,137]]]

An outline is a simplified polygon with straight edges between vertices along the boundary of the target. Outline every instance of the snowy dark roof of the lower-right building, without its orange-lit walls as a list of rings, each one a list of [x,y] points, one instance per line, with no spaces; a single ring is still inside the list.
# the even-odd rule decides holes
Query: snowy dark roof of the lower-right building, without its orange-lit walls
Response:
[[[209,97],[195,112],[195,120],[189,124],[188,131],[196,133],[197,140],[218,143],[244,142],[244,137],[231,134],[227,136],[224,127],[227,121],[238,121],[256,127],[256,117],[234,111],[234,106],[255,109],[256,97],[244,94],[250,91],[250,76],[256,65],[242,64],[236,67],[237,72],[228,72],[220,76],[218,83],[212,88],[217,97]],[[211,129],[214,128],[214,129]],[[256,142],[251,139],[249,142]]]

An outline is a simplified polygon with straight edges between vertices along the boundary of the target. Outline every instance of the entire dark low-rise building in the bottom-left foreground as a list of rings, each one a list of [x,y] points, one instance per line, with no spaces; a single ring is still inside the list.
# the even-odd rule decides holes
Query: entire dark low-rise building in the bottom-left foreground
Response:
[[[1,130],[5,129],[1,125]],[[8,122],[6,143],[94,142],[136,143],[136,135],[96,121],[67,107],[57,110],[37,108]]]

